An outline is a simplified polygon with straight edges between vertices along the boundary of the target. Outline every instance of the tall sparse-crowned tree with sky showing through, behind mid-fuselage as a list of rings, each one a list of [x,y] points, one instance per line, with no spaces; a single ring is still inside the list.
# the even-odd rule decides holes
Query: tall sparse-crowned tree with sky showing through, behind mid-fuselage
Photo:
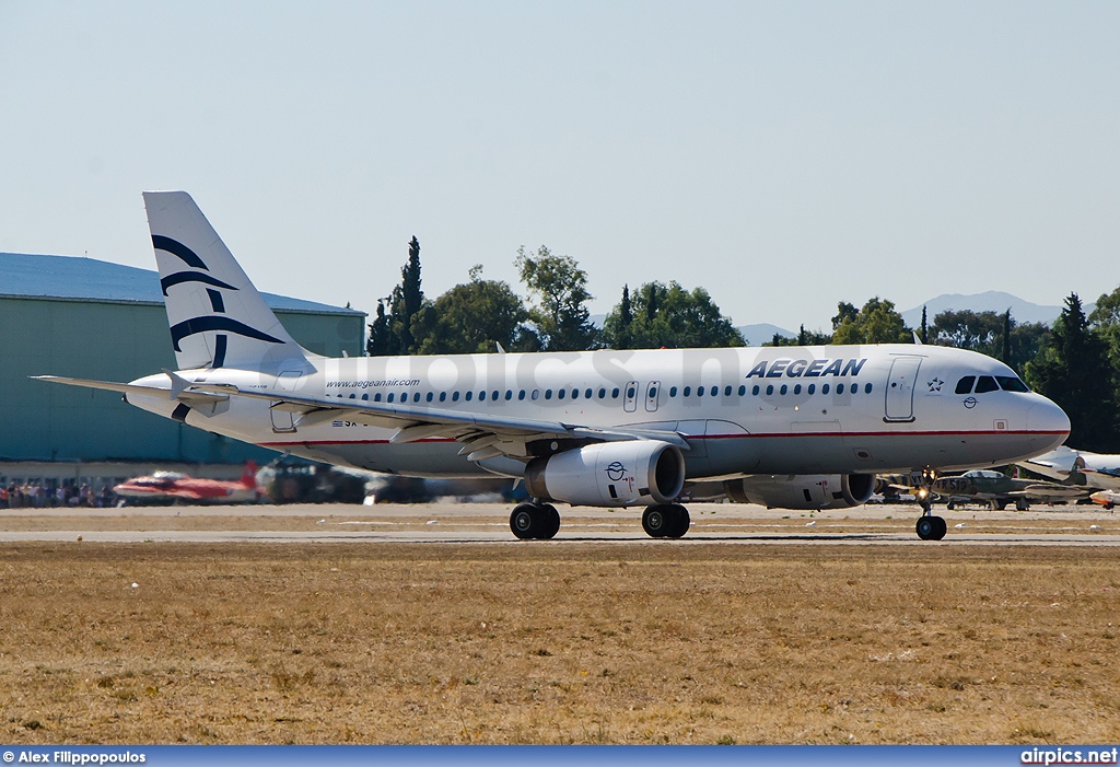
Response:
[[[553,255],[544,245],[535,255],[517,249],[521,281],[538,298],[529,310],[541,349],[580,352],[595,348],[598,330],[590,321],[587,272],[569,255]]]

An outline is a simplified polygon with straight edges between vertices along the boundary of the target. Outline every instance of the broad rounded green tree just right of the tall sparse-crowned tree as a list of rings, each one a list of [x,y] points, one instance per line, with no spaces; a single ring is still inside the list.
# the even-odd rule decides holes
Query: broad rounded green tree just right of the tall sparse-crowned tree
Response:
[[[652,309],[651,309],[652,307]],[[691,292],[676,282],[647,282],[635,292],[624,333],[622,305],[607,316],[603,338],[610,348],[712,348],[744,346],[739,331],[703,288]],[[627,343],[628,346],[620,346]]]

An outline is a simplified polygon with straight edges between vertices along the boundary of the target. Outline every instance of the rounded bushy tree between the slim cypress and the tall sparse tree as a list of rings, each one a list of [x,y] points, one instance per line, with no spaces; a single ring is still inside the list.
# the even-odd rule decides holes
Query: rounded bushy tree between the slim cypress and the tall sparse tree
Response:
[[[455,286],[424,306],[413,322],[420,354],[532,350],[532,331],[523,322],[529,312],[507,282],[482,279],[483,268],[470,270],[470,281]],[[523,347],[528,346],[525,349]]]

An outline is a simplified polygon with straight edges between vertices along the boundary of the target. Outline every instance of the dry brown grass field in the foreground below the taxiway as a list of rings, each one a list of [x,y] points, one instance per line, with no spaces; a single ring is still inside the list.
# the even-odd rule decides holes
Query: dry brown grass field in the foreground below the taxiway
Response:
[[[1118,598],[1095,548],[8,543],[0,740],[1116,742]]]

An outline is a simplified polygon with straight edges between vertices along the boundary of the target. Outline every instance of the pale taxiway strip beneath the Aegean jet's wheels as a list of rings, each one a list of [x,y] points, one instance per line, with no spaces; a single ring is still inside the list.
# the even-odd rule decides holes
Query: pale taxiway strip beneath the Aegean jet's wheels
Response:
[[[159,543],[575,543],[846,544],[846,545],[1077,545],[1120,546],[1120,517],[1091,506],[1029,512],[937,509],[949,526],[940,543],[914,533],[921,509],[870,504],[829,512],[767,509],[756,505],[690,504],[692,526],[680,540],[654,540],[642,530],[642,509],[558,506],[562,526],[550,542],[517,541],[512,505],[432,503],[357,506],[246,505],[125,508],[13,508],[0,511],[0,543],[83,541]]]

